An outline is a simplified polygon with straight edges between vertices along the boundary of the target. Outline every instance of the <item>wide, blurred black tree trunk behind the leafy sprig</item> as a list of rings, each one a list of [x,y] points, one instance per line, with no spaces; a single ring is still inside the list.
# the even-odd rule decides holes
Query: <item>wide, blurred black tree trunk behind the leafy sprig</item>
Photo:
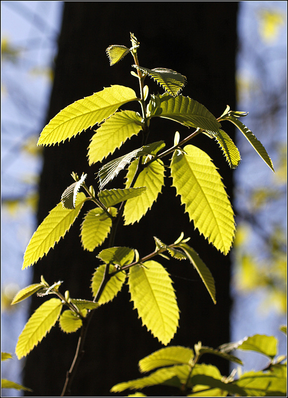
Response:
[[[226,104],[234,109],[237,6],[237,2],[201,1],[65,2],[47,121],[73,101],[112,84],[132,87],[138,93],[138,81],[130,74],[131,56],[127,55],[119,64],[109,67],[105,54],[105,49],[111,44],[129,47],[129,32],[133,32],[140,41],[138,56],[141,66],[170,68],[187,76],[188,84],[183,95],[204,104],[216,117],[224,111]],[[154,92],[163,92],[152,80],[150,83]],[[151,140],[165,139],[167,145],[173,144],[176,130],[181,137],[188,132],[184,126],[165,119],[154,118],[150,127]],[[233,135],[233,129],[229,130],[226,125],[223,128]],[[95,173],[98,165],[89,168],[86,157],[92,135],[93,131],[83,132],[70,142],[44,149],[38,223],[73,182],[72,171],[79,175],[88,173],[88,185],[97,187]],[[232,199],[232,174],[218,145],[205,136],[197,137],[193,144],[205,149],[220,168]],[[136,140],[129,140],[125,152],[136,145]],[[121,153],[119,151],[117,156]],[[167,179],[167,184],[169,181]],[[169,217],[166,215],[168,212]],[[39,282],[40,276],[44,275],[50,284],[64,281],[63,293],[69,290],[73,298],[91,299],[89,285],[98,266],[97,252],[83,252],[79,239],[80,223],[81,219],[76,221],[65,239],[61,239],[33,267],[33,282]],[[215,278],[217,304],[212,303],[187,261],[168,262],[163,259],[162,264],[175,281],[181,310],[180,328],[171,344],[193,347],[201,340],[204,345],[217,347],[229,341],[230,258],[229,255],[222,256],[197,231],[193,231],[188,215],[183,214],[179,198],[175,198],[175,189],[163,189],[163,195],[139,224],[119,230],[115,245],[137,248],[143,256],[154,250],[154,235],[170,244],[182,231],[185,236],[192,237],[190,244]],[[31,312],[42,301],[33,297]],[[108,396],[114,384],[139,377],[138,361],[161,348],[150,332],[141,327],[132,307],[125,287],[113,302],[96,311],[88,332],[85,355],[74,379],[72,396]],[[65,335],[56,326],[28,355],[24,385],[32,388],[33,393],[26,393],[27,396],[54,397],[61,394],[78,335]],[[227,375],[228,364],[217,358],[212,360]],[[148,394],[154,392],[165,396],[165,391],[150,389]]]

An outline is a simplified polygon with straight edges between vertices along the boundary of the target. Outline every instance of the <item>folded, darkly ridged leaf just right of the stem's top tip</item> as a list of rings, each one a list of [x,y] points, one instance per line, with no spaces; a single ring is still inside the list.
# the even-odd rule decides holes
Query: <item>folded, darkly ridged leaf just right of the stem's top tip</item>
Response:
[[[172,69],[155,68],[151,70],[137,65],[133,66],[134,68],[139,69],[143,74],[148,74],[148,76],[153,78],[168,94],[171,94],[173,97],[178,96],[187,83],[186,76],[181,75]]]

